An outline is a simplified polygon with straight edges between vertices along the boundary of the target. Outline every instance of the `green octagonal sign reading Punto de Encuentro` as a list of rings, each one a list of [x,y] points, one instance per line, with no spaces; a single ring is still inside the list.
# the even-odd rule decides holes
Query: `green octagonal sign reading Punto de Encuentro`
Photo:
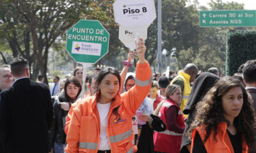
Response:
[[[95,64],[108,45],[109,33],[97,20],[79,20],[68,30],[66,50],[77,62]]]

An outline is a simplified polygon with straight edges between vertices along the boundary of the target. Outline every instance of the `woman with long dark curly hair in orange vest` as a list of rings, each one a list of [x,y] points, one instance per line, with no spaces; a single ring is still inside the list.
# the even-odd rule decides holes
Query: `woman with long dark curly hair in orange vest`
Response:
[[[196,105],[191,152],[248,152],[255,147],[251,99],[240,80],[221,78]]]

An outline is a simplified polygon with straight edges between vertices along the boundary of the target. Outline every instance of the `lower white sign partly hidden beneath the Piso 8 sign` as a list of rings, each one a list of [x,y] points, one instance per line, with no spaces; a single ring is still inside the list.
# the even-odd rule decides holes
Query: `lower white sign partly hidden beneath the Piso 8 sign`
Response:
[[[133,27],[132,29],[136,29],[136,27]],[[132,32],[125,27],[119,26],[119,40],[124,43],[125,47],[135,49],[136,36],[140,36],[143,40],[147,40],[147,27],[143,31]]]

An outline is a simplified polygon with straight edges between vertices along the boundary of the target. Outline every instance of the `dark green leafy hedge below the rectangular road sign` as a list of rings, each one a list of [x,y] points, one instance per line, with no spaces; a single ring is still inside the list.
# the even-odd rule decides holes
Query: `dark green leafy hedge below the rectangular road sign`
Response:
[[[228,31],[226,75],[234,75],[241,64],[256,59],[256,31]]]

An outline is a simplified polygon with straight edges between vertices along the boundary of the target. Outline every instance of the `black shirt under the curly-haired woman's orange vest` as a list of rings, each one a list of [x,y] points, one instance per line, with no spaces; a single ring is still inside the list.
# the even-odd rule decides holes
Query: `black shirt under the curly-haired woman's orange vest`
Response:
[[[230,142],[232,143],[232,147],[234,149],[235,153],[241,153],[242,152],[242,141],[241,141],[241,135],[237,132],[236,135],[231,135],[231,133],[227,130],[228,137],[230,138]],[[199,133],[196,133],[195,136],[195,142],[193,146],[193,152],[200,152],[200,153],[207,153],[204,143],[202,142],[202,139],[199,135]]]

